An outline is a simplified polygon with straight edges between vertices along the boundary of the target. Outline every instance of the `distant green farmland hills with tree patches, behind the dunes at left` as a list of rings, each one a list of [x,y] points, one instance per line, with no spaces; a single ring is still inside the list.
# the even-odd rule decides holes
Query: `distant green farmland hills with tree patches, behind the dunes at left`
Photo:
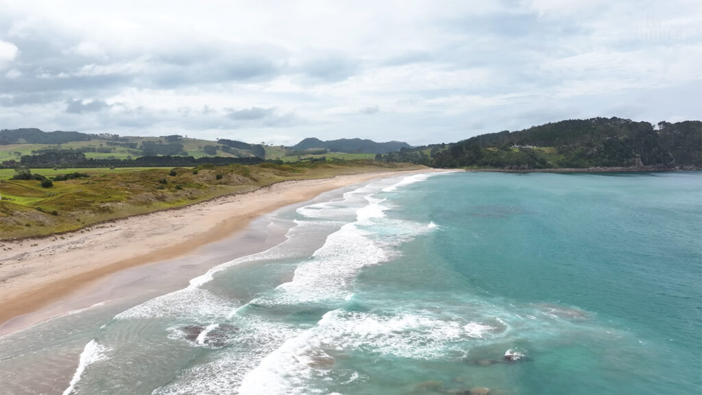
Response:
[[[344,138],[333,141],[305,138],[293,147],[285,147],[283,145],[250,144],[228,138],[208,141],[176,134],[141,137],[85,134],[77,131],[45,132],[35,128],[0,130],[0,163],[5,162],[6,167],[15,167],[17,164],[37,164],[37,156],[57,154],[72,158],[71,160],[74,162],[76,155],[83,155],[79,158],[80,161],[135,160],[146,156],[171,155],[195,159],[202,157],[258,157],[265,160],[297,162],[301,156],[320,159],[326,153],[334,153],[334,157],[339,160],[372,159],[377,153],[390,153],[400,148],[410,148],[410,145],[399,141],[376,143],[360,138]],[[343,153],[343,155],[338,155],[338,153]],[[32,158],[22,160],[23,157],[29,156]],[[87,164],[81,165],[87,166]]]

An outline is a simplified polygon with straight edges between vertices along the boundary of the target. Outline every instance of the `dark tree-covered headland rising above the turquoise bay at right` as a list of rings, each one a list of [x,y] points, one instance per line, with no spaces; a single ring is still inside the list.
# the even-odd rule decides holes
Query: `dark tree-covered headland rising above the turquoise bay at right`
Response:
[[[570,119],[385,155],[435,167],[702,167],[702,122]]]

